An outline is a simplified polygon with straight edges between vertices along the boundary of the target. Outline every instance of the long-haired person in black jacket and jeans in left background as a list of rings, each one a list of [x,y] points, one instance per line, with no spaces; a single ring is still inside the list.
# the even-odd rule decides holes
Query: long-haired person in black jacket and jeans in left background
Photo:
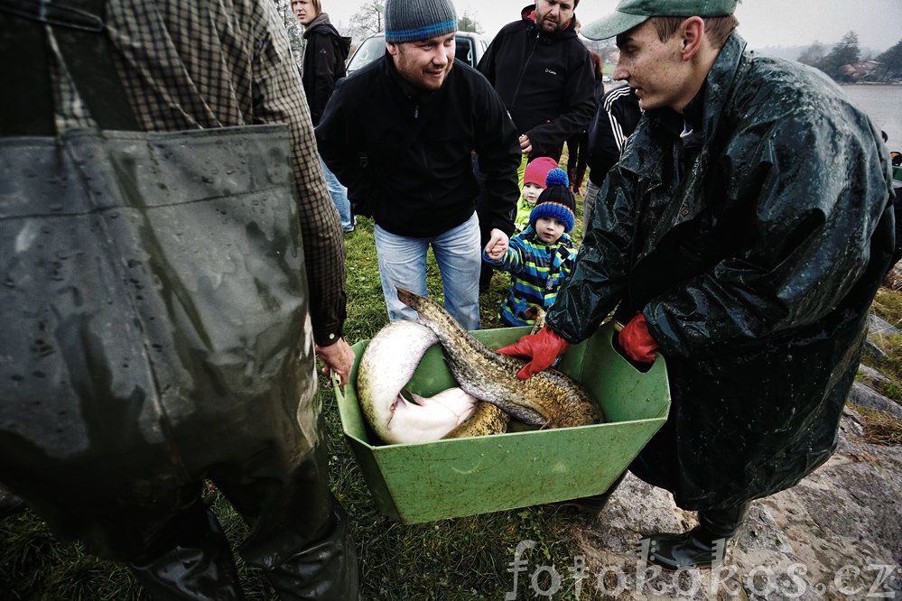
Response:
[[[292,10],[304,27],[306,40],[303,51],[301,83],[310,119],[313,125],[320,123],[322,111],[329,102],[335,82],[345,76],[345,60],[348,58],[350,38],[342,37],[329,21],[329,15],[322,12],[320,0],[293,0]],[[341,185],[335,174],[320,159],[322,175],[335,208],[341,217],[341,229],[353,232],[355,219],[351,212],[348,189]]]

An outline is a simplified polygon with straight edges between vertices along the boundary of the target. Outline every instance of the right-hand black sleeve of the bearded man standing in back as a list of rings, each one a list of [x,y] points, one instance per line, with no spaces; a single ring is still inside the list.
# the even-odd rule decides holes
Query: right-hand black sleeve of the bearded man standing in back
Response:
[[[536,125],[525,132],[533,145],[534,155],[552,153],[589,126],[595,113],[595,76],[588,51],[583,60],[574,69],[570,69],[564,89],[566,101],[561,114],[548,123]]]

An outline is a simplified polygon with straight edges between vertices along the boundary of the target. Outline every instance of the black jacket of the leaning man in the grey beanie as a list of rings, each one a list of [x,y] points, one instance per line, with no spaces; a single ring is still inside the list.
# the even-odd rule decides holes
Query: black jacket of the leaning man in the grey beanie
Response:
[[[516,128],[488,81],[460,60],[442,88],[412,97],[386,53],[339,81],[316,140],[357,213],[396,236],[437,236],[472,216],[475,150],[491,227],[514,230]]]

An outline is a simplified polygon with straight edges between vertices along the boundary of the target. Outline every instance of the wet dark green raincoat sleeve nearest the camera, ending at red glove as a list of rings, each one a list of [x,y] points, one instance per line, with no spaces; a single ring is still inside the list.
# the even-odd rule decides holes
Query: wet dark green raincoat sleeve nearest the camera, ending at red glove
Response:
[[[741,352],[813,324],[892,245],[878,227],[889,184],[866,117],[834,103],[752,121],[718,165],[733,182],[727,201],[754,207],[737,248],[643,309],[665,355]]]

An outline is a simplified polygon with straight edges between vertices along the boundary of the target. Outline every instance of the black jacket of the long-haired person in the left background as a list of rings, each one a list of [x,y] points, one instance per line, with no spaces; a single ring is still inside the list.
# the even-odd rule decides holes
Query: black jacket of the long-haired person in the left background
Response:
[[[320,123],[335,82],[345,76],[351,40],[339,35],[325,13],[316,15],[304,30],[303,37],[307,45],[303,51],[301,83],[310,106],[311,121],[316,125]]]

